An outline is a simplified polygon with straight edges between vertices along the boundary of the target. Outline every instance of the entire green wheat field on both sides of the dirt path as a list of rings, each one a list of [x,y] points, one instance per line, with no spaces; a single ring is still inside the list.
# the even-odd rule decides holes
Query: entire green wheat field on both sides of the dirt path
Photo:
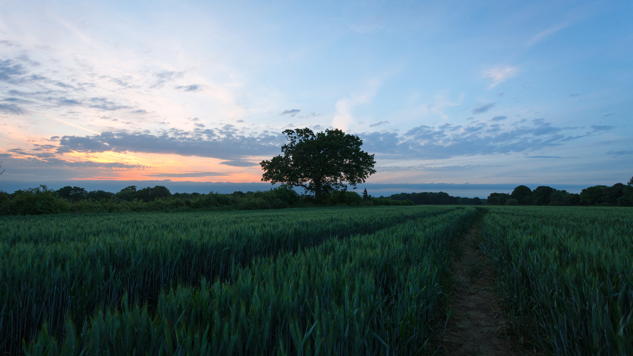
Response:
[[[4,216],[0,351],[432,355],[473,224],[513,333],[633,355],[633,208],[449,205]]]

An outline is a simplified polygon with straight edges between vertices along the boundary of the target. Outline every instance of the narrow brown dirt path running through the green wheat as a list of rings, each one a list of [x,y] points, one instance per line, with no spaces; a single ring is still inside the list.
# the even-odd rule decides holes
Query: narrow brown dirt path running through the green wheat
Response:
[[[513,356],[534,355],[511,347],[503,330],[503,314],[494,302],[491,270],[484,265],[484,256],[477,252],[472,226],[454,257],[455,278],[458,281],[451,300],[451,315],[444,342],[446,355],[451,356]],[[531,350],[530,350],[531,351]]]

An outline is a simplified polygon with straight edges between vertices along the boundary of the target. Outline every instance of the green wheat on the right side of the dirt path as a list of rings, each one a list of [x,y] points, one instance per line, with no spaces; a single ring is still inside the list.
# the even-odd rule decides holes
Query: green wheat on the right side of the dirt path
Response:
[[[556,355],[633,355],[633,209],[494,207],[479,227],[515,331]]]

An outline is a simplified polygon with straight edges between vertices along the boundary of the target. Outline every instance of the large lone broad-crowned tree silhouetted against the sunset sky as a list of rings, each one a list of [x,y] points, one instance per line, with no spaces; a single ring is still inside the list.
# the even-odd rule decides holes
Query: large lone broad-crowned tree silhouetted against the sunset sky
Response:
[[[287,144],[283,155],[260,163],[265,171],[261,180],[303,187],[315,193],[316,200],[335,190],[356,186],[376,171],[373,155],[361,151],[363,141],[342,130],[313,132],[308,129],[284,130]]]

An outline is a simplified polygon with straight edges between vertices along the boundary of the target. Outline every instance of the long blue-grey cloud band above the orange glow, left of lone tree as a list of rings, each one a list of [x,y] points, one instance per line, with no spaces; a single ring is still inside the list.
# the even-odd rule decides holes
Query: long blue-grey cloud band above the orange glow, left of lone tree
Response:
[[[63,136],[57,151],[173,153],[235,160],[254,154],[279,153],[283,142],[284,137],[275,134],[237,135],[233,125],[225,125],[221,129],[196,129],[194,132],[170,129],[156,135],[122,131],[85,137]]]

